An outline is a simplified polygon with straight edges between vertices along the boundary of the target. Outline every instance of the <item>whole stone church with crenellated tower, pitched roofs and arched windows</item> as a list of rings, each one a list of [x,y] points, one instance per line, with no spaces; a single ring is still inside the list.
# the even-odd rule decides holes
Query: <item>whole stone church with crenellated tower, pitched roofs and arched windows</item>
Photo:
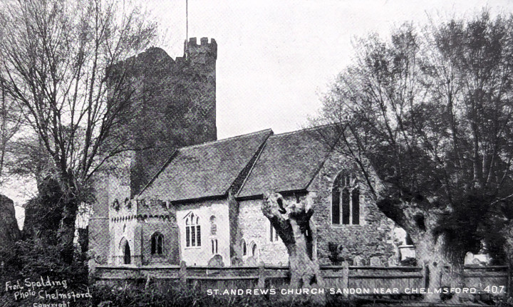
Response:
[[[333,255],[355,264],[400,261],[394,223],[368,197],[357,167],[323,141],[330,126],[217,140],[216,58],[214,39],[190,38],[176,60],[160,48],[127,60],[136,62],[134,85],[158,93],[135,101],[138,112],[160,114],[151,131],[127,125],[125,135],[163,146],[125,155],[98,177],[93,265],[286,266],[286,246],[261,211],[265,192],[313,203],[321,264],[337,261]],[[182,125],[169,125],[170,113]]]

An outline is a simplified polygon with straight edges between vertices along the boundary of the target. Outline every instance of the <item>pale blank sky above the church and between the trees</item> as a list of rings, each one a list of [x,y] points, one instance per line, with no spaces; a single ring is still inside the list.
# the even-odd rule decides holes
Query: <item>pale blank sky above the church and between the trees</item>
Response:
[[[157,46],[183,56],[186,0],[133,1],[160,25]],[[354,38],[386,37],[410,21],[473,16],[485,6],[513,12],[511,0],[188,0],[189,37],[217,41],[217,137],[303,128],[351,62]],[[20,223],[27,187],[1,189],[14,199]]]

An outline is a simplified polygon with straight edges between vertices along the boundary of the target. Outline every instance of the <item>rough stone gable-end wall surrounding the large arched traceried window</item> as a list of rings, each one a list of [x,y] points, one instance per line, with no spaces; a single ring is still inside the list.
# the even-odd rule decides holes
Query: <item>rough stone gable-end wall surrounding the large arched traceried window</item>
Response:
[[[358,169],[346,158],[333,154],[326,160],[321,171],[311,183],[309,190],[317,192],[314,201],[314,222],[318,231],[317,253],[321,264],[331,264],[329,245],[337,246],[339,255],[351,264],[356,256],[366,261],[373,256],[379,257],[383,264],[393,256],[394,222],[380,212],[375,202],[368,196],[363,178],[360,184],[360,224],[331,223],[331,189],[339,172],[356,174]]]

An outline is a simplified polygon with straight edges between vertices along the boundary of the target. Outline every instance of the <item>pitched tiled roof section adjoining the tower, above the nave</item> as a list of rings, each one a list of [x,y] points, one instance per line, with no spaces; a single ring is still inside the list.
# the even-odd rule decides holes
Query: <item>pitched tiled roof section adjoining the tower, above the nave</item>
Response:
[[[272,135],[262,130],[224,140],[182,147],[142,190],[140,197],[158,195],[172,202],[226,195],[249,168],[261,146]]]

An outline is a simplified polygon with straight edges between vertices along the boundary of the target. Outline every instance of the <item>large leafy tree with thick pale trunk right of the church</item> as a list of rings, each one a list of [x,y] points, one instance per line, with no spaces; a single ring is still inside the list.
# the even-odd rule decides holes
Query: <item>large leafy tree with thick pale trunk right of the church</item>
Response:
[[[358,40],[323,102],[318,120],[336,126],[337,150],[413,239],[432,287],[460,281],[489,208],[512,197],[512,59],[512,16],[405,24]]]

